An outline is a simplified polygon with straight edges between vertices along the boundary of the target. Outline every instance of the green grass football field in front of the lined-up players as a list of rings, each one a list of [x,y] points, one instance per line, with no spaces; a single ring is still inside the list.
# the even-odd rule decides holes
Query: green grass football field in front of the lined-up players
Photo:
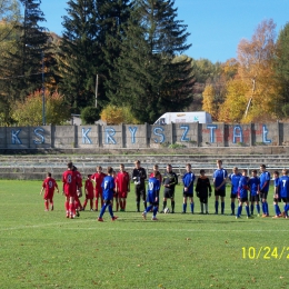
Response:
[[[286,219],[236,220],[228,198],[226,216],[198,215],[198,199],[181,215],[178,186],[177,213],[157,222],[134,212],[133,193],[114,222],[91,211],[71,220],[61,195],[44,212],[40,188],[0,181],[0,288],[289,288]]]

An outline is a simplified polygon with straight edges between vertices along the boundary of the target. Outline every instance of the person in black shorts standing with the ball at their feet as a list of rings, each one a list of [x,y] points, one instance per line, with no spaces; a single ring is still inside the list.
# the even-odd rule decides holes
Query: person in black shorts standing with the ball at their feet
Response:
[[[171,165],[167,165],[167,171],[163,173],[163,205],[162,211],[167,207],[167,199],[171,201],[171,212],[175,212],[175,187],[178,183],[178,176],[172,171]]]

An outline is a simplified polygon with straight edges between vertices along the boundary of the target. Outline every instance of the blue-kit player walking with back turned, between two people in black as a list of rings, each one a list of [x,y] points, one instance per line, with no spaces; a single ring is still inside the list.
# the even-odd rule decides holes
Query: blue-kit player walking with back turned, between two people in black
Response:
[[[148,185],[148,196],[147,196],[147,202],[149,202],[149,206],[147,209],[142,212],[142,218],[147,220],[147,213],[152,209],[152,218],[151,220],[157,221],[157,213],[158,213],[158,207],[159,207],[159,192],[160,192],[160,173],[159,171],[153,171],[153,177],[149,178],[149,185]]]

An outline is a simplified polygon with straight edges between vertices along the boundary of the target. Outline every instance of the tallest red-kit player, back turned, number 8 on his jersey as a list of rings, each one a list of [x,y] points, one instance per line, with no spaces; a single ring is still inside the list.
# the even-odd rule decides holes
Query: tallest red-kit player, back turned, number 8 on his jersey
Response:
[[[77,171],[73,170],[72,162],[67,165],[67,170],[62,175],[63,193],[66,196],[67,218],[73,219],[76,216],[74,198],[77,189],[80,188],[80,179]]]

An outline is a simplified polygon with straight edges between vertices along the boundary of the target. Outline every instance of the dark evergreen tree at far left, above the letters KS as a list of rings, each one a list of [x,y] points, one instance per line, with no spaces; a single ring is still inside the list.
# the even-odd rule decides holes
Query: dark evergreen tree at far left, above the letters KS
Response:
[[[46,21],[40,10],[40,0],[20,0],[23,19],[14,28],[13,49],[7,51],[1,61],[2,91],[16,99],[24,99],[41,89],[42,72],[48,53],[48,33],[39,22]]]

